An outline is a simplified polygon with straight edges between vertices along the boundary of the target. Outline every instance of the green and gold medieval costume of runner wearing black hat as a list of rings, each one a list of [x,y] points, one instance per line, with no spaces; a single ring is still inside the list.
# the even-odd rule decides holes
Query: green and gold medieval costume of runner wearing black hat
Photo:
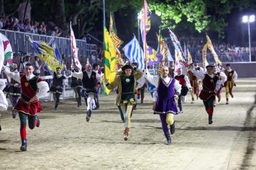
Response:
[[[125,75],[125,70],[135,70],[131,75]],[[132,107],[135,104],[134,91],[136,89],[136,81],[141,78],[143,72],[140,69],[132,68],[131,65],[124,65],[122,67],[122,74],[116,75],[115,80],[111,83],[107,83],[108,89],[115,89],[118,86],[118,94],[116,97],[115,105],[118,107],[120,116],[124,121],[124,140],[127,141],[131,123]]]

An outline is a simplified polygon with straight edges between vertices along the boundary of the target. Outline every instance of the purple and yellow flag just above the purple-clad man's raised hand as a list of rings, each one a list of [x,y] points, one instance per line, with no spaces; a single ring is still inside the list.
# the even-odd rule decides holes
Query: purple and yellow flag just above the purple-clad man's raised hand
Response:
[[[147,45],[147,56],[148,56],[148,63],[147,65],[156,65],[161,63],[163,56],[159,53],[157,53],[156,50],[154,50],[152,47],[149,47]]]

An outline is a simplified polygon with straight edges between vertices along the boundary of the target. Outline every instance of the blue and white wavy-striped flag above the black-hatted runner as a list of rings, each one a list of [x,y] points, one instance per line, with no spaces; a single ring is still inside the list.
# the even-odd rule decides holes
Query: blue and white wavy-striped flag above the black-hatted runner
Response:
[[[131,42],[127,43],[124,48],[124,54],[131,63],[138,63],[138,68],[144,70],[144,52],[140,47],[136,36],[134,35]]]

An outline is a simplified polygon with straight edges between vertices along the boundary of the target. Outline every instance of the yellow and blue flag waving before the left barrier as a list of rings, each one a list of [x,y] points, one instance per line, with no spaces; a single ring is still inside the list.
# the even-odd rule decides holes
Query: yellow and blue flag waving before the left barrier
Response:
[[[54,49],[48,45],[48,43],[33,41],[29,36],[28,41],[31,43],[33,49],[38,53],[39,58],[42,59],[49,68],[52,70],[56,70],[58,67],[63,69],[63,64],[61,63],[60,65],[60,62],[55,56]]]

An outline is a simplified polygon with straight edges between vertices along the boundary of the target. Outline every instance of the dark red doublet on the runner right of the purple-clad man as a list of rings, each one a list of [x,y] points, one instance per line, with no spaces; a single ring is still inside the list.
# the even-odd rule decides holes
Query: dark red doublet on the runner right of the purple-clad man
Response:
[[[208,74],[205,74],[205,77],[203,79],[203,89],[200,92],[200,99],[201,100],[208,100],[211,96],[215,96],[215,88],[216,88],[216,82],[218,81],[218,77],[215,75],[213,78],[211,78]]]

